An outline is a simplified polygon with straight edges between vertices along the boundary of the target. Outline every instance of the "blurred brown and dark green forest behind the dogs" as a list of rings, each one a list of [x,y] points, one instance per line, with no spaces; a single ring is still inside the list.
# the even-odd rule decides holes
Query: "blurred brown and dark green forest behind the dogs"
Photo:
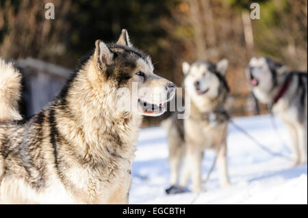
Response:
[[[44,18],[49,2],[54,20]],[[249,17],[253,2],[260,5],[259,20]],[[5,59],[34,57],[73,69],[95,40],[112,42],[123,28],[151,55],[155,72],[179,86],[184,60],[229,59],[235,115],[253,113],[244,77],[252,55],[307,70],[307,0],[0,0]]]

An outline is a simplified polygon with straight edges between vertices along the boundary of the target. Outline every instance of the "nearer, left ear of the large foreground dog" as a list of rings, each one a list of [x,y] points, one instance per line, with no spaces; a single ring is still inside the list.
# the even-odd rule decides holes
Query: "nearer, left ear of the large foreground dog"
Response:
[[[103,41],[96,40],[95,51],[94,51],[94,63],[96,63],[101,70],[104,70],[107,65],[112,64],[113,58],[114,58],[114,53],[110,51],[108,46]]]

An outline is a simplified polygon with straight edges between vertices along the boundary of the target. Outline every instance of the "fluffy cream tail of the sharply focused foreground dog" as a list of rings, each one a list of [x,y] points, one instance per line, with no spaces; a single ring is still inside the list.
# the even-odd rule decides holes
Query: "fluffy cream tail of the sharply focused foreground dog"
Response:
[[[18,100],[21,97],[21,73],[0,57],[0,122],[21,120]]]

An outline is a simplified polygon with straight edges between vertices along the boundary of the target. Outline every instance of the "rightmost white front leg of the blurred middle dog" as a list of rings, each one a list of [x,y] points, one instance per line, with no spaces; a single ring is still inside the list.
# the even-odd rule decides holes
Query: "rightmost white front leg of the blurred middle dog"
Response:
[[[227,169],[227,144],[224,143],[217,154],[216,164],[218,167],[218,176],[220,187],[229,187],[229,176]]]

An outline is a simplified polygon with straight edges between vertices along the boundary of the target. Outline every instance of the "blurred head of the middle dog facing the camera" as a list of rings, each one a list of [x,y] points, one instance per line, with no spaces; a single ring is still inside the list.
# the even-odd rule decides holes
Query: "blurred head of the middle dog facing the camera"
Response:
[[[217,64],[211,62],[195,62],[190,65],[183,62],[185,75],[184,85],[192,100],[203,103],[206,99],[215,99],[222,92],[228,92],[229,87],[224,80],[228,68],[227,59],[222,59]]]

